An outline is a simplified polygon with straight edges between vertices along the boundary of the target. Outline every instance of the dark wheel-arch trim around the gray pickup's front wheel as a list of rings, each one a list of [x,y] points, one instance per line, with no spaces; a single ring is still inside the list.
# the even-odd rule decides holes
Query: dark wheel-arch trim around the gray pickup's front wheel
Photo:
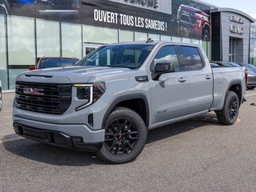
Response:
[[[109,108],[106,110],[106,113],[104,114],[103,120],[102,120],[102,129],[105,129],[106,126],[106,118],[109,117],[111,112],[114,110],[114,107],[118,105],[119,102],[125,102],[131,99],[140,98],[143,99],[143,101],[146,104],[146,127],[149,126],[150,123],[150,110],[149,110],[149,104],[146,99],[145,94],[126,94],[123,96],[120,96],[118,98],[115,98],[114,101],[110,104]]]

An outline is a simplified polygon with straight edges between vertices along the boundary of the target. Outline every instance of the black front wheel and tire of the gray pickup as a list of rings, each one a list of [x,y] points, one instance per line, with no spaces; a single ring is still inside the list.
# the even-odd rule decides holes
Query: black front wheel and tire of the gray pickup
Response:
[[[98,157],[104,162],[131,162],[142,152],[148,131],[142,118],[124,107],[118,107],[106,119],[105,141]]]

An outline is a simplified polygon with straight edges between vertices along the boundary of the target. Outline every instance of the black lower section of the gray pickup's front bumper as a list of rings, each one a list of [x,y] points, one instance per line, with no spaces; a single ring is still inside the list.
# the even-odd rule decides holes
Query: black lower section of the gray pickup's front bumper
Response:
[[[103,142],[97,143],[85,143],[81,142],[74,142],[74,138],[78,137],[71,137],[67,134],[63,134],[58,131],[53,130],[41,130],[31,126],[24,126],[17,122],[14,122],[14,131],[16,134],[24,137],[30,138],[37,142],[44,142],[46,144],[50,144],[52,146],[61,146],[69,149],[74,150],[86,150],[86,151],[99,151],[102,149]]]

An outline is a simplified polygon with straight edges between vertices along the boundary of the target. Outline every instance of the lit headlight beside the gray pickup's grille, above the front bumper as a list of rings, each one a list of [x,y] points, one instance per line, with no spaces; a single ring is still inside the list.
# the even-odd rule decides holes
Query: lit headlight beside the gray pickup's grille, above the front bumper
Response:
[[[104,82],[95,82],[94,84],[75,84],[74,87],[77,89],[77,99],[86,101],[85,104],[79,106],[76,110],[82,110],[86,108],[86,106],[90,106],[94,102],[98,101],[106,91]]]

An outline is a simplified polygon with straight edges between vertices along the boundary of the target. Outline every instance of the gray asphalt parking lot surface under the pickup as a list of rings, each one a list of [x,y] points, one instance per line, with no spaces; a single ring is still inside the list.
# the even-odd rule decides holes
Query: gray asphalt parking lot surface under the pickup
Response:
[[[233,126],[215,114],[151,130],[134,162],[21,139],[12,129],[14,94],[0,112],[0,191],[256,191],[256,90]]]

